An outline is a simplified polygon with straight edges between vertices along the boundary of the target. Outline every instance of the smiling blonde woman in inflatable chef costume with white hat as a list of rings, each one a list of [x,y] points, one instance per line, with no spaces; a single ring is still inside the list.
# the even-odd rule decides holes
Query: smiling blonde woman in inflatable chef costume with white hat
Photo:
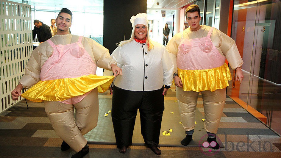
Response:
[[[165,47],[150,40],[146,13],[132,16],[130,21],[133,27],[131,38],[122,41],[111,54],[123,72],[114,81],[112,97],[116,144],[121,153],[125,153],[127,146],[132,145],[139,109],[144,142],[155,154],[160,155],[161,150],[157,147],[164,94],[171,86],[173,65]]]

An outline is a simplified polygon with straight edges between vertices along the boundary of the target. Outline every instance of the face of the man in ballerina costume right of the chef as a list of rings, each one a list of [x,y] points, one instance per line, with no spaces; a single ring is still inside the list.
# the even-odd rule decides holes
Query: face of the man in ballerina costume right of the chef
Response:
[[[201,16],[198,14],[198,12],[187,12],[186,21],[188,22],[188,26],[192,31],[197,31],[201,28]]]

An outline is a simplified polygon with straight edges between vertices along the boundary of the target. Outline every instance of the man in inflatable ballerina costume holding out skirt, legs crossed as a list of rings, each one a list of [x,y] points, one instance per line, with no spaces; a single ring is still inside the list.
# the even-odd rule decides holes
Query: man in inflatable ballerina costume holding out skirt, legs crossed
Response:
[[[105,91],[113,79],[112,76],[96,76],[96,67],[112,68],[115,76],[122,74],[122,70],[115,65],[108,49],[90,38],[69,34],[71,21],[71,11],[61,9],[56,18],[57,35],[32,52],[24,76],[11,93],[13,100],[19,96],[38,102],[44,100],[54,131],[63,139],[61,150],[73,148],[77,152],[72,155],[75,158],[89,152],[83,135],[97,125],[97,87]],[[105,80],[102,85],[100,82]],[[21,95],[23,87],[31,86]]]

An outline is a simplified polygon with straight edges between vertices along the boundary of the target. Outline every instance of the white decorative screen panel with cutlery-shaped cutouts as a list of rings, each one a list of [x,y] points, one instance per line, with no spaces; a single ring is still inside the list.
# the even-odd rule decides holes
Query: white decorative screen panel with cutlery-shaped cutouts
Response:
[[[24,75],[32,52],[31,6],[0,0],[0,112],[11,107],[11,91]]]

